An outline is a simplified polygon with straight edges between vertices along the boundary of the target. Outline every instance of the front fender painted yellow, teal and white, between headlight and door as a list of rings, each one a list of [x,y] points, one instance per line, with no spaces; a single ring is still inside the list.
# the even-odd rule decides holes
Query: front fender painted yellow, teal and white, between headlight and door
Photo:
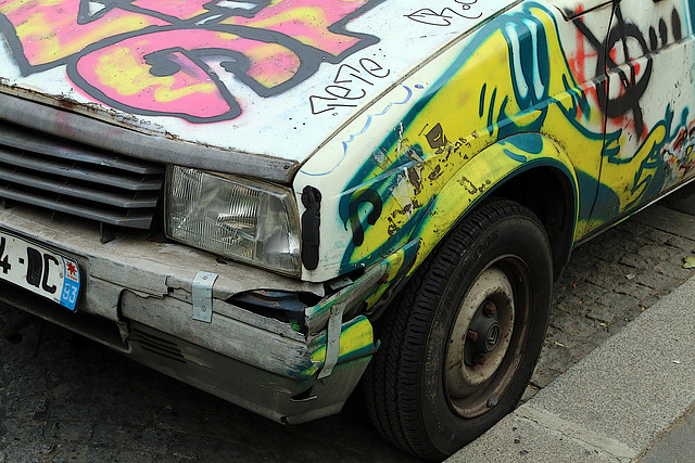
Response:
[[[426,256],[479,193],[493,190],[508,176],[513,169],[502,167],[506,162],[527,160],[505,146],[514,144],[507,138],[525,132],[540,132],[554,141],[535,138],[533,157],[546,157],[572,172],[568,175],[579,201],[574,239],[580,239],[595,197],[604,147],[603,115],[585,110],[591,108],[589,99],[602,79],[573,79],[559,41],[560,27],[576,29],[540,3],[525,3],[493,18],[408,77],[321,149],[342,149],[339,164],[320,152],[311,158],[296,176],[295,192],[321,184],[325,207],[338,210],[339,217],[321,216],[323,221],[338,223],[321,229],[326,233],[321,243],[328,244],[321,265],[305,275],[320,281],[369,266],[419,233],[427,236],[420,249]],[[541,38],[546,47],[536,54],[533,47]],[[531,54],[532,67],[515,62],[522,53]],[[393,125],[394,119],[400,121]],[[384,132],[389,137],[370,151],[359,143]],[[495,151],[503,157],[489,158],[489,177],[466,168],[470,159],[498,143]],[[560,157],[569,158],[573,167]],[[324,184],[323,176],[352,179],[344,185]],[[579,176],[582,189],[574,179]],[[432,207],[439,193],[452,181],[466,180],[479,182],[447,189],[463,193],[456,197],[464,207],[446,211],[451,217],[443,221],[429,220],[437,214]],[[427,221],[432,229],[424,224]],[[433,229],[437,237],[431,235]]]

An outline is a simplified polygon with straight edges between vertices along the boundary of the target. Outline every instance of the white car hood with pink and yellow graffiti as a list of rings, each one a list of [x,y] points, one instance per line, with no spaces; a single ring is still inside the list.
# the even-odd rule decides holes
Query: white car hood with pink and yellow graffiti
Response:
[[[301,164],[510,2],[0,0],[0,92]]]

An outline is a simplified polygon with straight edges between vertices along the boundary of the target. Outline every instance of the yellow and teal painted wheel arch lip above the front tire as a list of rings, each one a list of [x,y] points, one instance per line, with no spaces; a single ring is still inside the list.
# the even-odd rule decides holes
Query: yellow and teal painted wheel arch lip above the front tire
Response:
[[[539,217],[551,242],[557,278],[574,242],[578,184],[569,157],[554,140],[520,133],[498,141],[473,156],[439,192],[429,218],[415,234],[424,246],[410,274],[468,214],[491,197],[503,197]]]

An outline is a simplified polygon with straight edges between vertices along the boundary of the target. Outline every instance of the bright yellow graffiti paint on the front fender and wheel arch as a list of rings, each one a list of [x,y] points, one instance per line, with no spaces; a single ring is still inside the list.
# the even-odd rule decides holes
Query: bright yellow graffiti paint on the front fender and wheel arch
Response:
[[[364,243],[355,247],[351,261],[370,259],[376,249],[383,248],[384,240],[389,241],[389,249],[402,246],[410,236],[396,240],[395,233],[406,226],[416,210],[434,201],[435,207],[418,229],[422,245],[419,263],[421,256],[431,250],[472,204],[472,200],[494,188],[506,173],[520,166],[501,147],[494,150],[495,155],[485,156],[485,163],[477,163],[476,168],[467,164],[486,147],[503,142],[504,137],[531,130],[525,127],[534,127],[536,123],[540,126],[531,131],[539,131],[545,140],[539,156],[567,166],[572,175],[573,165],[598,178],[603,115],[598,111],[578,111],[579,99],[584,98],[584,90],[593,83],[578,85],[574,81],[553,17],[542,9],[533,9],[532,12],[542,21],[543,28],[536,31],[544,34],[547,42],[549,75],[543,82],[546,97],[529,108],[519,104],[518,86],[515,87],[517,77],[510,66],[514,50],[501,29],[493,31],[414,120],[404,129],[396,128],[397,142],[379,154],[375,169],[353,193],[353,197],[358,197],[364,190],[378,185],[383,177],[401,176],[399,185],[392,190],[396,194],[381,194],[381,218],[366,228]],[[528,91],[534,89],[529,88]],[[442,137],[438,138],[439,145],[432,146],[428,134],[431,136],[435,126],[441,128]],[[596,136],[590,138],[586,132]],[[421,152],[416,153],[414,146],[419,146]],[[567,153],[567,156],[560,153]],[[404,165],[404,157],[409,157],[410,163]],[[465,176],[460,173],[464,166],[467,166]],[[361,222],[364,223],[370,207],[362,205],[362,210],[358,210]],[[441,220],[442,216],[446,218]],[[587,231],[585,227],[578,229],[577,237]]]

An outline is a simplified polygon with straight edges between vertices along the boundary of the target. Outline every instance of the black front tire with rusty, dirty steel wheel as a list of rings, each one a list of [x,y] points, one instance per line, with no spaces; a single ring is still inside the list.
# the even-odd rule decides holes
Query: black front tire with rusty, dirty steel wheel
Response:
[[[365,374],[388,440],[442,460],[515,408],[545,337],[552,266],[543,226],[516,203],[488,203],[446,236],[383,316]]]

